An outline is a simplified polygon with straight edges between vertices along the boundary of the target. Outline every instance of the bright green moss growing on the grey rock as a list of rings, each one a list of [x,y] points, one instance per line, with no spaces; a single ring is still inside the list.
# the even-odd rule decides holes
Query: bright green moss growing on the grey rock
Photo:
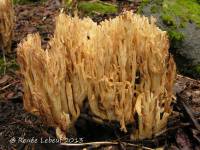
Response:
[[[192,21],[200,27],[200,5],[196,0],[163,0],[161,19],[168,26],[172,47],[176,48],[184,39],[178,28],[184,28]]]

